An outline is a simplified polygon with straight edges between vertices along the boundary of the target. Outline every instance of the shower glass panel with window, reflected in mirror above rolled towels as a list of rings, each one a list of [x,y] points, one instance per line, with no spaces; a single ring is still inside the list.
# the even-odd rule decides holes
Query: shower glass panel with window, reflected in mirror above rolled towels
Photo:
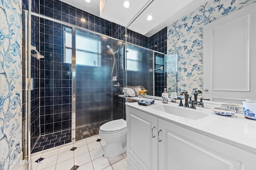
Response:
[[[154,53],[135,45],[126,44],[127,85],[144,86],[147,94],[153,96],[154,87]]]

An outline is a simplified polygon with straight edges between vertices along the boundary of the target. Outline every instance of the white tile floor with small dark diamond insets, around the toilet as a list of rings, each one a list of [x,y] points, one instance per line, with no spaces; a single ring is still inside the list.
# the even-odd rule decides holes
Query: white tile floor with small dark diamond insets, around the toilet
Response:
[[[98,139],[99,136],[96,135],[32,154],[31,160],[36,161],[32,164],[32,170],[131,170],[127,166],[126,153],[114,158],[105,158],[103,153],[106,141]],[[18,170],[26,170],[26,166],[20,166]]]

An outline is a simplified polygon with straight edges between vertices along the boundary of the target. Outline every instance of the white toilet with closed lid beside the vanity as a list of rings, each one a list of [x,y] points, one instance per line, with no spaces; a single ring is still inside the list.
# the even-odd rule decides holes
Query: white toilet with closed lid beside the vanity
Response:
[[[107,142],[104,157],[113,158],[127,151],[127,125],[124,119],[109,121],[101,125],[99,136]]]

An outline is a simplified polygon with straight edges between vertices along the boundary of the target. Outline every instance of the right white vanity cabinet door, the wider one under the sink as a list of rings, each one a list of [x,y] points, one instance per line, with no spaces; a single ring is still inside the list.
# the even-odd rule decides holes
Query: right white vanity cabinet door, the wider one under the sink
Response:
[[[254,170],[256,154],[158,120],[159,170]]]

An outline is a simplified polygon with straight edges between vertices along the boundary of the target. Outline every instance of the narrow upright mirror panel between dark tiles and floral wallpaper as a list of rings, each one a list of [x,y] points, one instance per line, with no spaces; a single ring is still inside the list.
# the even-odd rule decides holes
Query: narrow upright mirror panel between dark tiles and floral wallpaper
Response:
[[[177,50],[172,51],[166,55],[164,55],[164,71],[166,77],[166,88],[169,96],[171,92],[177,92],[177,78],[178,78],[178,71],[177,71]]]

